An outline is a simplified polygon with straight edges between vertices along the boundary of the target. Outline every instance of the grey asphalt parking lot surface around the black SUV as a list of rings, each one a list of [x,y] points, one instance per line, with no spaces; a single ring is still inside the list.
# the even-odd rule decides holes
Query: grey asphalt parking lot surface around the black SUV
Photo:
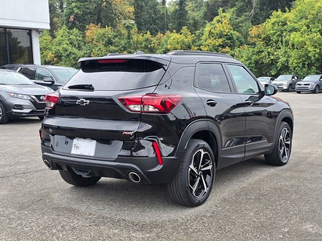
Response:
[[[68,185],[41,160],[37,118],[0,126],[0,240],[322,240],[322,93],[276,96],[294,110],[288,165],[219,170],[196,208],[166,185]]]

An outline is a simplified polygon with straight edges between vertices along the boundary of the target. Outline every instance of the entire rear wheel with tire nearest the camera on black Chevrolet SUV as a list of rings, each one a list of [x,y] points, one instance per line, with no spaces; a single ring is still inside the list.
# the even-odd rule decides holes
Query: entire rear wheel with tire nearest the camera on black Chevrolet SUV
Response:
[[[213,152],[206,142],[191,139],[179,168],[168,185],[171,198],[184,206],[194,207],[204,203],[210,195],[215,179],[214,160]]]

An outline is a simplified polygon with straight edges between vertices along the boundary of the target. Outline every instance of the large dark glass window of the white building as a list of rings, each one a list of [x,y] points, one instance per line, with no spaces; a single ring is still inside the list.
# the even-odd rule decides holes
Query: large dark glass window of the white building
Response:
[[[0,28],[0,66],[32,63],[31,31]]]

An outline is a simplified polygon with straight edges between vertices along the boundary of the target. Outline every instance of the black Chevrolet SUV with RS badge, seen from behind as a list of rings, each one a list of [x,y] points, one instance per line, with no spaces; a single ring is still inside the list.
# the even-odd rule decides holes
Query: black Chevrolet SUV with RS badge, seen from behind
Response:
[[[69,184],[169,183],[175,201],[197,206],[216,170],[263,154],[272,165],[289,160],[290,106],[231,56],[173,51],[78,64],[46,95],[40,130],[44,163]]]

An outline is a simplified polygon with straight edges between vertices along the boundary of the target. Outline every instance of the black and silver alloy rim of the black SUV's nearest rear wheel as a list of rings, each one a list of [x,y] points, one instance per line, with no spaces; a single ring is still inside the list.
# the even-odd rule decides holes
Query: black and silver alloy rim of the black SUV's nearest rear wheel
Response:
[[[201,198],[209,191],[213,175],[211,157],[208,152],[199,149],[193,155],[188,175],[192,195]]]

